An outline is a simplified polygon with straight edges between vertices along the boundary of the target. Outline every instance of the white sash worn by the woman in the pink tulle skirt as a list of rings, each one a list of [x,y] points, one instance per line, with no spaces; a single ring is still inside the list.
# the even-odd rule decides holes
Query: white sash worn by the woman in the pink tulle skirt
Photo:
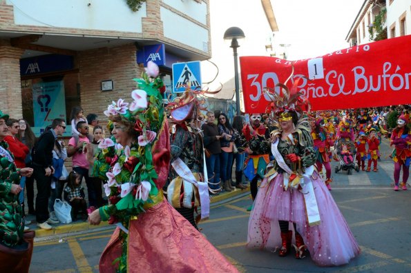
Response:
[[[294,141],[292,136],[288,136],[291,141]],[[275,143],[271,144],[271,152],[274,155],[274,158],[276,159],[278,165],[285,170],[284,174],[284,187],[285,190],[288,188],[289,184],[289,175],[292,173],[291,169],[288,167],[288,165],[285,163],[283,156],[278,152],[278,139]],[[314,172],[314,165],[309,166],[308,168],[305,169],[305,173],[303,174],[303,178],[300,180],[300,185],[301,188],[303,188],[302,193],[304,195],[304,201],[305,201],[305,210],[307,210],[307,218],[308,218],[308,223],[310,226],[312,225],[318,225],[321,221],[320,219],[320,212],[318,211],[318,204],[316,200],[316,195],[314,192],[314,186],[312,185],[312,181],[310,176],[312,176],[312,173]]]

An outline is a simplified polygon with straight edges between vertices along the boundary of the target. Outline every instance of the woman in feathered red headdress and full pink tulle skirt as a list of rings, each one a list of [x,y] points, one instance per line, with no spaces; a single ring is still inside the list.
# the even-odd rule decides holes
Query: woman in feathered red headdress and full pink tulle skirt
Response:
[[[323,179],[314,170],[316,152],[309,123],[298,112],[307,106],[303,94],[285,85],[282,94],[270,92],[280,130],[271,133],[274,161],[260,185],[249,219],[248,247],[291,251],[295,234],[295,257],[309,250],[314,263],[343,265],[360,253],[350,228]]]

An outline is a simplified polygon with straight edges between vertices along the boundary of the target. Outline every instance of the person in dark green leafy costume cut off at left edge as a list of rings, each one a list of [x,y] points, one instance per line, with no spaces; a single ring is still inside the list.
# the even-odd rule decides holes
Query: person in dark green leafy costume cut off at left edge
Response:
[[[15,157],[4,141],[8,117],[0,111],[0,272],[21,273],[30,267],[35,232],[24,232],[20,179],[31,176],[33,170],[15,165]]]

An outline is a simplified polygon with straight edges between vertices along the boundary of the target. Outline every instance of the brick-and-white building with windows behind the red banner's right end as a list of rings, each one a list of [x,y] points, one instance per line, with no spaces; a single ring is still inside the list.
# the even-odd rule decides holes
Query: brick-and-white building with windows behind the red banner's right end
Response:
[[[350,46],[411,34],[408,0],[365,0],[345,40]]]

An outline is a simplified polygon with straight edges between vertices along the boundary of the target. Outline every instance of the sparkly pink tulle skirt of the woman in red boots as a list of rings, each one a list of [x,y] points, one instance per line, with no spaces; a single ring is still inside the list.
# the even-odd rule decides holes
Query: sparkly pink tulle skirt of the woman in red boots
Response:
[[[247,247],[280,248],[278,221],[283,220],[296,223],[296,229],[317,265],[343,265],[360,254],[359,245],[325,183],[316,172],[313,176],[321,223],[309,226],[303,194],[294,189],[284,191],[283,174],[278,174],[271,181],[264,179],[260,185],[249,219]],[[292,223],[289,223],[289,230],[294,230]]]

